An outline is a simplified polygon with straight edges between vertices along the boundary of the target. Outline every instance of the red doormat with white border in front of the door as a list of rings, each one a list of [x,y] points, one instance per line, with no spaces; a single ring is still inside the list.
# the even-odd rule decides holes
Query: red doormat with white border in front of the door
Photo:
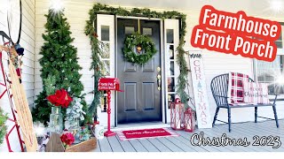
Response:
[[[120,140],[179,136],[177,133],[173,133],[167,128],[130,130],[117,132],[117,134]]]

